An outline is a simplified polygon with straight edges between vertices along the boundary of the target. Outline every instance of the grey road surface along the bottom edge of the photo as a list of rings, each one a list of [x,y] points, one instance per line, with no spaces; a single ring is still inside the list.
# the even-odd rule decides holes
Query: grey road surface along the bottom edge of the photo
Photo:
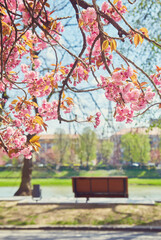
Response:
[[[0,240],[161,240],[161,232],[0,230]]]

